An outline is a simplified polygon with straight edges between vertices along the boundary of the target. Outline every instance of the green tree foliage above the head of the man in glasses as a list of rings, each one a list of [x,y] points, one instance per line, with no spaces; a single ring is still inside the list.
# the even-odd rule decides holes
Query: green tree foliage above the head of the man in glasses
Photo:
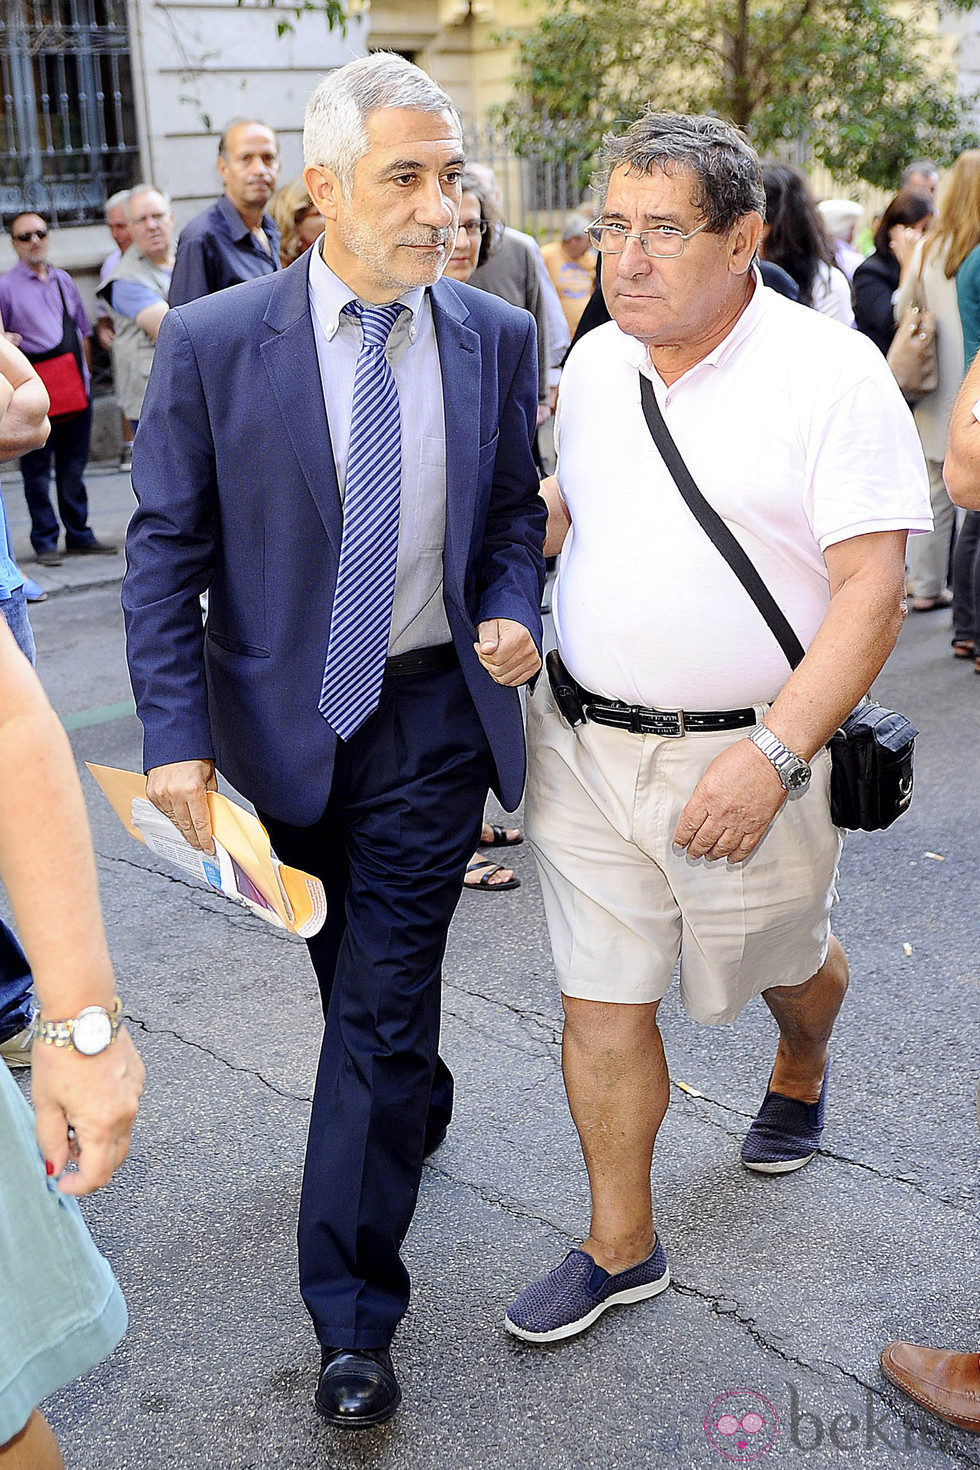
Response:
[[[890,187],[909,159],[976,144],[921,13],[890,0],[558,0],[517,32],[500,121],[519,153],[588,157],[651,106],[711,112],[760,153],[802,140],[842,181]]]

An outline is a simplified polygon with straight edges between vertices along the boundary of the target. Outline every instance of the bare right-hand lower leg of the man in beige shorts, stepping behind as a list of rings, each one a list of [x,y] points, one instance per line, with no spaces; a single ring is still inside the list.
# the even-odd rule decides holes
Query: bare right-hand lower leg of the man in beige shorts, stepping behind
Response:
[[[827,958],[802,985],[774,985],[763,1000],[779,1026],[779,1047],[770,1088],[799,1102],[820,1097],[827,1042],[848,989],[848,958],[830,936]]]

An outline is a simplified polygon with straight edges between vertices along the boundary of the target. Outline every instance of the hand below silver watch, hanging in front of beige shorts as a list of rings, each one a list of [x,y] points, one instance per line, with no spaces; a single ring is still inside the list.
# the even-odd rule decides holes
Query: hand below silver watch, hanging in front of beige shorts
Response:
[[[749,739],[716,756],[680,813],[674,845],[689,857],[742,863],[786,800],[774,766]]]

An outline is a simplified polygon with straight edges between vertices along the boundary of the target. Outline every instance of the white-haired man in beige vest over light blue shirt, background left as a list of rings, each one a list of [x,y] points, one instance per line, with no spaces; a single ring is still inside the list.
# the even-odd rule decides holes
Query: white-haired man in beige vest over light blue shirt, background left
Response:
[[[166,194],[138,184],[126,200],[132,244],[98,287],[112,312],[116,398],[131,428],[140,422],[153,350],[167,313],[173,273],[173,210]]]

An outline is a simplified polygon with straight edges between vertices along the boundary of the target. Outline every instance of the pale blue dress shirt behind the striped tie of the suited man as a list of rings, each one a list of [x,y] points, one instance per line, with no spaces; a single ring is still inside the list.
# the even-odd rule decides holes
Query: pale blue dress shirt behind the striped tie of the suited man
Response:
[[[310,309],[331,428],[336,484],[344,498],[350,448],[354,366],[360,323],[344,315],[356,295],[323,260],[310,256]],[[445,545],[445,409],[432,304],[425,287],[406,291],[406,306],[388,340],[386,357],[398,390],[401,417],[401,503],[398,566],[388,653],[408,653],[451,641],[442,601]]]

